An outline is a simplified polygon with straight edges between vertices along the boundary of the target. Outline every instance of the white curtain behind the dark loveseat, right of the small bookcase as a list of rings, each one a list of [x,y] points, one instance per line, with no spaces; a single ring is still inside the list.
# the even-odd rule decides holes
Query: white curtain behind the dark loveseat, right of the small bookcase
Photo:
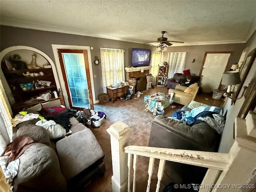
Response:
[[[186,63],[187,52],[169,52],[167,62],[169,64],[168,78],[175,73],[183,73]]]

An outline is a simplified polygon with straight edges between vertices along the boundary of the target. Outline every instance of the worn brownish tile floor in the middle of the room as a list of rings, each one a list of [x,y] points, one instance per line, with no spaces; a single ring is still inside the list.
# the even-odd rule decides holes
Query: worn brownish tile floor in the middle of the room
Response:
[[[138,145],[138,146],[148,146],[148,140],[150,136],[150,128],[152,120],[155,116],[152,115],[152,112],[146,112],[144,104],[139,103],[140,99],[144,98],[144,95],[151,95],[155,92],[163,92],[168,94],[168,89],[166,87],[155,87],[151,90],[142,91],[144,94],[141,95],[141,98],[134,99],[134,96],[131,100],[116,100],[114,103],[111,101],[106,104],[95,104],[94,109],[98,111],[103,111],[106,113],[106,120],[100,126],[100,128],[91,128],[88,126],[95,137],[97,138],[104,154],[104,162],[106,166],[106,173],[103,177],[98,178],[94,182],[92,182],[89,186],[84,188],[83,192],[111,192],[111,177],[112,173],[112,159],[111,159],[111,148],[110,148],[110,135],[106,130],[109,128],[111,124],[114,124],[117,121],[122,121],[130,128],[132,128],[132,133],[130,134],[129,145]],[[208,98],[206,100],[205,98]],[[214,100],[212,96],[206,93],[197,94],[196,101],[202,102],[204,104],[213,105],[213,106],[221,106],[223,104],[222,100]],[[183,105],[173,103],[172,105],[176,106],[176,108],[167,107],[164,112],[164,116],[172,116],[172,114],[177,110],[182,108]],[[172,106],[171,105],[171,106]],[[147,180],[148,180],[148,162],[149,158],[139,156],[138,158],[138,170],[136,171],[137,178],[136,181],[136,191],[146,191]],[[154,170],[154,174],[152,177],[151,188],[150,191],[156,190],[157,183],[157,168]],[[164,176],[161,181],[160,191],[164,189],[164,187],[170,183],[170,178],[166,178]]]

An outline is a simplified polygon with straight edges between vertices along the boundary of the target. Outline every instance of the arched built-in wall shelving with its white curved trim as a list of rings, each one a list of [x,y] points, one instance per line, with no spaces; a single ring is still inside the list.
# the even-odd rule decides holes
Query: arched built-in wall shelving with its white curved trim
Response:
[[[8,58],[13,58],[14,54],[18,54],[21,58],[20,60],[26,64],[30,64],[32,60],[32,55],[36,56],[36,65],[40,68],[38,69],[16,69],[16,70],[3,70],[3,66],[5,65],[5,60]],[[24,104],[25,101],[35,98],[40,94],[43,94],[47,91],[54,91],[60,89],[60,83],[58,80],[58,75],[56,72],[56,67],[52,59],[45,54],[44,52],[29,46],[12,46],[2,50],[1,56],[1,81],[4,86],[4,90],[8,97],[8,102],[12,106],[12,109],[17,107],[24,107],[28,104]],[[44,68],[44,65],[47,64],[51,66],[51,68]],[[40,74],[40,76],[24,76],[26,72]],[[31,88],[31,90],[22,90],[22,84],[24,83],[32,83],[36,80],[44,80],[51,82],[50,86],[45,86],[41,89],[36,89],[35,87]],[[62,103],[63,99],[61,98]],[[33,102],[32,104],[37,104],[40,102],[45,102],[44,100],[39,100]],[[63,103],[64,104],[64,103]]]

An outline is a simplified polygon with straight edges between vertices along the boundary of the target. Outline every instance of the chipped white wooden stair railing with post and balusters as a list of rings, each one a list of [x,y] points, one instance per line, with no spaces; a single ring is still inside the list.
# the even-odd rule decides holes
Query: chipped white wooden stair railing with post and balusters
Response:
[[[248,119],[246,122],[244,119],[236,118],[236,140],[229,153],[128,146],[132,129],[121,121],[112,124],[107,129],[110,134],[112,153],[112,191],[130,192],[132,189],[135,192],[138,156],[149,158],[146,192],[150,191],[156,159],[160,160],[156,192],[160,189],[166,160],[208,168],[200,185],[200,192],[221,192],[223,188],[238,192],[242,187],[256,188],[254,184],[250,184],[252,178],[255,179],[256,177],[256,136],[252,135],[256,133],[256,116],[254,120],[252,120],[252,117]],[[247,158],[247,156],[250,158]],[[241,164],[241,160],[243,164]],[[131,188],[132,169],[134,174]]]

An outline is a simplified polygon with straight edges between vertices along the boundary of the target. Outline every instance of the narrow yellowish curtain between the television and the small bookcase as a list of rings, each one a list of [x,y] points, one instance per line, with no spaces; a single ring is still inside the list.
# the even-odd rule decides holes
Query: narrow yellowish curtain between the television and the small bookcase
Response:
[[[150,74],[153,75],[152,84],[156,84],[156,78],[158,75],[158,65],[161,64],[161,52],[152,51],[151,52],[151,59],[150,59],[150,65],[152,66],[150,68]]]

